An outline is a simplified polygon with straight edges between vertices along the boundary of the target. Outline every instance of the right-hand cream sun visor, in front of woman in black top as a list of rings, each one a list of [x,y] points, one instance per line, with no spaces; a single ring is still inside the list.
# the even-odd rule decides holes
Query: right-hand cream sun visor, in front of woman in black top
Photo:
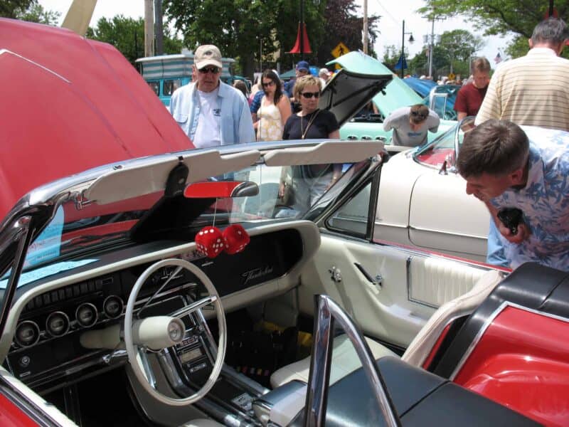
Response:
[[[381,141],[326,141],[312,147],[274,149],[264,158],[267,166],[353,163],[373,157],[382,149]]]

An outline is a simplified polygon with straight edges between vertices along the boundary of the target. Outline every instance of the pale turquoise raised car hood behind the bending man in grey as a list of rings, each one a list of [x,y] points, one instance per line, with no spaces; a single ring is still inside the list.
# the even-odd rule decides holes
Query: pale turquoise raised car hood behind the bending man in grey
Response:
[[[420,104],[422,102],[421,97],[408,85],[403,83],[403,80],[391,73],[391,70],[385,67],[381,62],[375,58],[371,58],[371,56],[365,53],[346,53],[346,55],[326,63],[326,65],[334,64],[341,65],[343,70],[347,70],[351,73],[390,75],[392,77],[385,90],[373,97],[373,102],[383,117],[388,117],[393,110],[397,110],[400,107],[407,107],[408,105]]]

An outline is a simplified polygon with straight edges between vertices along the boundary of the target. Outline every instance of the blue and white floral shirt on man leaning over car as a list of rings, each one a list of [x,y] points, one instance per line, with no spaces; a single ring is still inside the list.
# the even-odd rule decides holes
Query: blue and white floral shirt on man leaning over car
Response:
[[[535,261],[569,271],[569,132],[523,130],[530,140],[527,184],[505,191],[491,204],[521,209],[531,236],[519,244],[499,236],[504,255],[511,268]]]

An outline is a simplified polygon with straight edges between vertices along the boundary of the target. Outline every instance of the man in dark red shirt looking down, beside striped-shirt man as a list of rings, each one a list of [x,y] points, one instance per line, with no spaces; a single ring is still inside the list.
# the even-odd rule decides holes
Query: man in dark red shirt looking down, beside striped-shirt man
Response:
[[[490,63],[484,57],[472,61],[472,82],[462,86],[458,91],[457,100],[454,102],[454,110],[458,114],[458,120],[464,117],[477,115],[488,83],[490,83]]]

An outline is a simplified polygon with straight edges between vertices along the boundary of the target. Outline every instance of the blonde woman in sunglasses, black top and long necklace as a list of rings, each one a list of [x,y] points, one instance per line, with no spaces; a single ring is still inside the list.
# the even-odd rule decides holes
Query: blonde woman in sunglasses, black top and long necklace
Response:
[[[282,139],[339,139],[340,130],[334,113],[320,110],[320,79],[305,75],[294,85],[294,98],[302,110],[291,115],[285,124]],[[341,176],[341,164],[311,164],[284,169],[279,196],[287,200],[289,211],[279,216],[295,216],[305,212]]]

